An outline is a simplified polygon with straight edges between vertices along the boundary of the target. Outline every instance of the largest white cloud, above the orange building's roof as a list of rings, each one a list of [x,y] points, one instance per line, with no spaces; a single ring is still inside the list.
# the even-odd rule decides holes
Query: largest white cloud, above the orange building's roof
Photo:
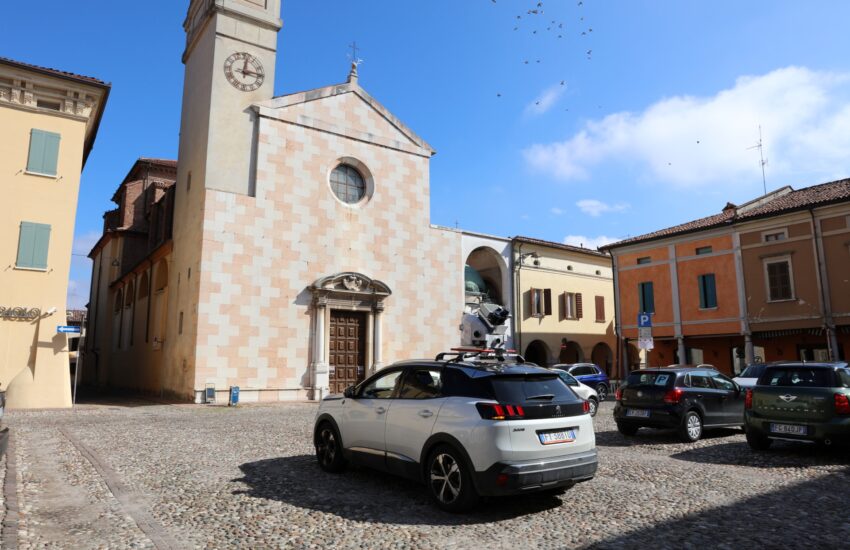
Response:
[[[761,179],[764,129],[768,177],[850,171],[850,75],[802,67],[738,78],[710,97],[675,96],[643,112],[591,120],[565,141],[524,151],[533,168],[562,180],[587,178],[603,163],[680,187]],[[815,182],[812,182],[815,183]]]

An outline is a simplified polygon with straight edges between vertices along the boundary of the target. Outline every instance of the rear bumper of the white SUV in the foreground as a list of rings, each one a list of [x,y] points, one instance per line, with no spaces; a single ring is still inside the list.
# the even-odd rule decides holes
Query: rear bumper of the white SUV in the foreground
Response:
[[[593,479],[598,464],[596,449],[556,458],[497,462],[483,472],[475,472],[475,486],[482,496],[569,487]]]

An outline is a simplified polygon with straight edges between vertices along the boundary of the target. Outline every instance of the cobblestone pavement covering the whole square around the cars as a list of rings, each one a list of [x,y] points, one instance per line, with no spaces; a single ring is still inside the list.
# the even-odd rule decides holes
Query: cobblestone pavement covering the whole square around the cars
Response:
[[[850,539],[847,449],[779,443],[754,454],[737,430],[693,445],[664,432],[625,438],[610,403],[595,421],[593,481],[463,516],[433,507],[415,483],[321,472],[315,405],[130,405],[6,415],[19,548],[838,548]]]

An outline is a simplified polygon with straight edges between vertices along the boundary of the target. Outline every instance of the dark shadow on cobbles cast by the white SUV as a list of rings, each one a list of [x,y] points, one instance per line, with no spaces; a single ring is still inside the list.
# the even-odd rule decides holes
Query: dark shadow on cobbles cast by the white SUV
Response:
[[[271,458],[239,466],[245,490],[234,494],[276,500],[334,514],[351,521],[400,525],[469,525],[489,523],[561,505],[563,497],[541,494],[483,500],[466,514],[449,514],[434,505],[424,485],[366,468],[341,474],[322,471],[312,455]],[[483,541],[482,541],[483,542]]]

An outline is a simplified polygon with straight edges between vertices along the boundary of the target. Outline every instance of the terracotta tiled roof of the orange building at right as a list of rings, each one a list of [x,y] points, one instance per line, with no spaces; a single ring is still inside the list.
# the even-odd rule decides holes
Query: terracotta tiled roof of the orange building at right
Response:
[[[822,183],[812,187],[805,187],[798,191],[791,190],[788,193],[780,194],[776,198],[754,208],[739,209],[735,205],[727,203],[723,211],[719,214],[675,225],[673,227],[668,227],[645,235],[631,237],[613,244],[605,245],[600,249],[610,250],[612,248],[628,244],[653,241],[656,239],[663,239],[665,237],[673,237],[676,235],[684,235],[696,231],[722,227],[724,225],[731,225],[737,221],[777,216],[787,212],[805,210],[807,208],[844,201],[850,201],[850,179]]]

